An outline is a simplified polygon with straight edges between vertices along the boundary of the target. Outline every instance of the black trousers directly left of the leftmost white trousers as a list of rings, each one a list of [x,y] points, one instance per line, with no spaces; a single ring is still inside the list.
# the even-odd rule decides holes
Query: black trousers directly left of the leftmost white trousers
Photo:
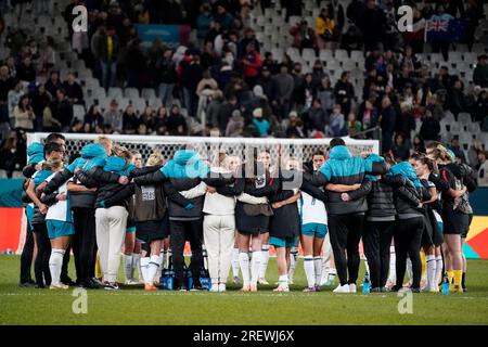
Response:
[[[77,282],[94,278],[97,259],[97,229],[93,208],[73,208],[73,224],[75,235],[73,237],[73,255]]]

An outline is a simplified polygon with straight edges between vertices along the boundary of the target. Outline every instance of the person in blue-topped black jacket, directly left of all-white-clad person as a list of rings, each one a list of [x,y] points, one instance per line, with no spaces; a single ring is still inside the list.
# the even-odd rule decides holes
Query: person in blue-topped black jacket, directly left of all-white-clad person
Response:
[[[159,170],[150,174],[154,184],[160,184],[169,181],[177,191],[184,192],[197,189],[202,181],[207,181],[213,187],[213,180],[208,179],[209,168],[202,160],[200,154],[194,150],[179,150]],[[200,270],[203,268],[202,243],[203,243],[203,215],[204,194],[189,198],[190,204],[181,206],[178,202],[169,198],[169,230],[170,248],[175,267],[175,278],[177,280],[177,290],[189,290],[184,283],[184,243],[190,241],[192,249],[191,269],[193,287],[190,290],[202,291],[204,287],[200,282]]]

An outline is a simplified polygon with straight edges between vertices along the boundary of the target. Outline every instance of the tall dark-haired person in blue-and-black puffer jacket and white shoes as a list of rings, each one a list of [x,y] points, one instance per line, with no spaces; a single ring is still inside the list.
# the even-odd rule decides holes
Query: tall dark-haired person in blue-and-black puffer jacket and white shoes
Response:
[[[304,175],[304,178],[317,187],[325,188],[328,183],[352,185],[362,183],[367,174],[383,175],[387,168],[388,165],[378,155],[371,154],[367,158],[352,156],[344,140],[335,138],[331,140],[329,160],[313,176]],[[334,293],[356,293],[359,242],[368,204],[364,188],[360,188],[357,196],[352,193],[349,193],[352,198],[345,201],[342,198],[344,193],[325,191],[331,244],[341,281]]]

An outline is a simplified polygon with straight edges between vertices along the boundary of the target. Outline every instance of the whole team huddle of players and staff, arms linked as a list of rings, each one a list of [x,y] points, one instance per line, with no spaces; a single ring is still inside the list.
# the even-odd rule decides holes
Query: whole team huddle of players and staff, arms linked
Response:
[[[370,152],[354,156],[336,138],[305,163],[286,153],[273,163],[256,149],[245,157],[218,151],[204,158],[187,146],[166,163],[154,152],[143,165],[141,154],[100,137],[64,163],[65,139],[52,133],[27,149],[21,285],[118,290],[124,258],[125,283],[143,282],[145,291],[171,269],[178,291],[206,290],[207,270],[209,291],[226,292],[232,268],[233,282],[256,292],[268,284],[272,245],[274,291],[288,292],[299,243],[304,292],[337,277],[334,293],[356,293],[362,240],[372,293],[437,293],[442,280],[463,292],[476,178],[442,144],[426,152],[401,163]],[[70,250],[76,282],[67,273]]]

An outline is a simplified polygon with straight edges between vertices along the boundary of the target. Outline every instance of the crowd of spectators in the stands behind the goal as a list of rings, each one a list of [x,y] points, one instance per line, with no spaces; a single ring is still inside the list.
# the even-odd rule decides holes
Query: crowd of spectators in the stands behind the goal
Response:
[[[3,2],[7,2],[4,4]],[[23,9],[52,14],[29,1],[10,1]],[[256,3],[255,3],[256,2]],[[298,49],[344,48],[364,50],[363,88],[351,81],[350,72],[337,78],[317,60],[304,73],[300,62],[286,53],[273,56],[251,28],[251,11],[273,1],[251,0],[72,0],[63,16],[73,49],[105,89],[153,88],[160,107],[143,110],[129,103],[121,110],[114,99],[107,110],[87,103],[84,82],[76,70],[60,76],[55,66],[56,44],[51,37],[36,41],[24,30],[9,28],[5,42],[11,55],[0,67],[0,163],[12,172],[25,160],[25,132],[66,131],[157,136],[324,138],[351,136],[381,139],[383,152],[399,159],[425,142],[440,140],[440,121],[470,113],[488,131],[487,55],[479,53],[472,72],[474,88],[467,89],[446,62],[437,70],[423,65],[416,54],[423,40],[406,40],[396,28],[395,9],[409,1],[354,0],[322,2],[312,28],[300,21],[290,29]],[[468,21],[466,43],[473,46],[483,15],[481,1],[425,1],[414,18],[439,13]],[[26,4],[27,3],[27,4]],[[88,33],[73,33],[73,8],[89,10]],[[281,0],[286,17],[303,15],[300,1]],[[9,1],[2,1],[9,7]],[[25,8],[27,7],[27,8]],[[9,11],[9,10],[7,10]],[[138,36],[136,24],[181,24],[195,29],[194,41],[179,47],[155,40],[150,47]],[[433,47],[445,53],[445,46]],[[280,62],[280,63],[279,63]],[[39,76],[46,83],[37,82]],[[92,100],[92,99],[91,99]],[[74,107],[87,110],[82,119]],[[415,120],[422,126],[415,132]],[[455,149],[457,139],[450,143]],[[465,150],[465,151],[463,151]],[[454,152],[455,153],[455,152]],[[468,153],[466,156],[465,153]],[[487,152],[478,141],[460,159],[481,167]],[[462,154],[462,155],[461,155]]]

